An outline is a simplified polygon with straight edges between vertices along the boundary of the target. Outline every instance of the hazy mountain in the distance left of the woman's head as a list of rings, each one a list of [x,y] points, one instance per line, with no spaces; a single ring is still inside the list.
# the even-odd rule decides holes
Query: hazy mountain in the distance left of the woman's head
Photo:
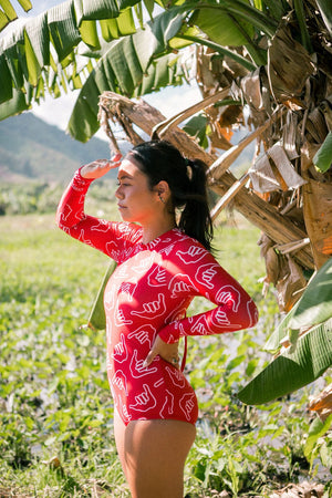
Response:
[[[31,112],[0,122],[1,181],[66,183],[83,164],[107,157],[107,142],[91,138],[82,144]]]

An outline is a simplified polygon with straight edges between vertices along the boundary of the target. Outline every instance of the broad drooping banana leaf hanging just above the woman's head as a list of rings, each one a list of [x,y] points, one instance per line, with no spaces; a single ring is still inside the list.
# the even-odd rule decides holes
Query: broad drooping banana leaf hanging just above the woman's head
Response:
[[[148,61],[146,50],[137,50],[147,41],[146,31],[113,42],[97,62],[76,98],[68,132],[77,141],[87,142],[97,132],[100,95],[112,91],[128,96],[139,96],[167,85],[179,85],[186,73],[178,55],[169,53]],[[147,43],[148,45],[148,43]],[[149,51],[149,49],[148,49]],[[149,63],[148,69],[146,69]]]

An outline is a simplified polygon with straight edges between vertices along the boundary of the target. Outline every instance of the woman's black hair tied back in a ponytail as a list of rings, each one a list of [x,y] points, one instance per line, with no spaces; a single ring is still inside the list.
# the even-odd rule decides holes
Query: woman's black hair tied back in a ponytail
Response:
[[[178,227],[211,250],[214,228],[207,200],[205,163],[185,158],[166,141],[144,142],[136,145],[128,153],[131,155],[147,175],[151,188],[162,180],[167,181],[173,208],[184,208]]]

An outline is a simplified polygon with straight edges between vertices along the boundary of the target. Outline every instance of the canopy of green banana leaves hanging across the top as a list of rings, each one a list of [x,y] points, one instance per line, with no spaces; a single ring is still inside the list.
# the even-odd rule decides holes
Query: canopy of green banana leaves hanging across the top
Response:
[[[118,7],[106,0],[87,3],[79,8],[76,2],[66,1],[49,9],[28,20],[0,46],[1,118],[40,102],[44,89],[56,97],[61,87],[66,92],[72,86],[81,91],[69,129],[85,142],[98,127],[97,102],[103,91],[138,96],[187,80],[184,62],[172,53],[174,50],[193,43],[214,44],[220,54],[247,69],[263,64],[266,54],[255,33],[272,37],[283,7],[281,1],[273,1],[273,9],[256,9],[243,0],[159,2],[164,12],[144,24],[143,6],[137,0],[120,2]],[[152,18],[155,3],[145,6]],[[227,48],[241,44],[253,62]]]

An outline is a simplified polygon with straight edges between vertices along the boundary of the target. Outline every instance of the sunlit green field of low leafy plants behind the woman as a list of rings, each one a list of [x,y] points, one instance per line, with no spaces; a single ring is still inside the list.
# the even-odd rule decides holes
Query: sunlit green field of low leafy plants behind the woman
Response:
[[[221,264],[258,304],[257,328],[188,342],[186,370],[200,405],[186,467],[191,498],[329,481],[319,460],[309,475],[303,457],[312,386],[259,409],[236,397],[268,360],[261,346],[280,320],[272,289],[261,295],[258,238],[239,218],[225,221],[215,242]],[[1,496],[129,496],[113,438],[104,332],[82,328],[107,263],[61,232],[53,215],[0,217]],[[190,313],[208,305],[197,299]]]

